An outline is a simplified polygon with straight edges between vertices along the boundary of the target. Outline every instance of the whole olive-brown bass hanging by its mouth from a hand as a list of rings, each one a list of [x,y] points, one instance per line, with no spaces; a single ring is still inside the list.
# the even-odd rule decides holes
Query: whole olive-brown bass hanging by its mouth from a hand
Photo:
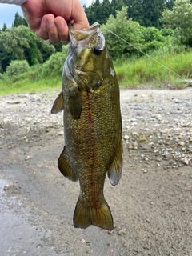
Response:
[[[62,73],[62,92],[51,113],[64,110],[65,146],[58,169],[80,183],[74,227],[113,230],[103,194],[106,174],[117,185],[122,176],[122,118],[118,78],[106,40],[95,22],[86,29],[69,25],[70,46]]]

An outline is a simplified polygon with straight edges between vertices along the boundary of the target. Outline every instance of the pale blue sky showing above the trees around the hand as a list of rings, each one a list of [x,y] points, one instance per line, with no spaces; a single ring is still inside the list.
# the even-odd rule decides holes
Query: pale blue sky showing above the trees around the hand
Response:
[[[80,0],[82,5],[85,4],[89,6],[93,0]],[[3,23],[6,23],[7,27],[11,27],[14,22],[14,14],[18,12],[22,16],[22,10],[20,6],[7,5],[0,3],[0,28],[2,28]]]

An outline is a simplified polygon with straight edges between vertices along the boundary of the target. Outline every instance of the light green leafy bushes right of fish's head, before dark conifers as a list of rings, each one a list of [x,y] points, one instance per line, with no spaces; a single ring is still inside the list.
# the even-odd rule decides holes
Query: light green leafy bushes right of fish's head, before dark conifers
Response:
[[[138,22],[132,21],[132,19],[127,20],[126,17],[127,7],[124,6],[122,10],[117,11],[116,18],[110,15],[106,25],[101,28],[112,58],[140,56],[141,52],[138,49],[146,53],[151,50],[158,50],[173,41],[171,37],[173,30],[161,31],[154,27],[146,28],[140,26]],[[119,23],[119,20],[122,20],[122,23]],[[123,38],[123,41],[111,34],[109,30]],[[164,36],[163,33],[167,35]]]

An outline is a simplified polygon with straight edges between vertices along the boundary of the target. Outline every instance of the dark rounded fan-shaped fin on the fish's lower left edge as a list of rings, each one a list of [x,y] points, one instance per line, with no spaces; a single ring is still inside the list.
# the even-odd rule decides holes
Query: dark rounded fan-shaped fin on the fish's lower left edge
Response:
[[[62,154],[58,158],[58,169],[66,178],[69,178],[71,181],[76,182],[78,180],[78,174],[70,165],[70,159],[66,154],[66,146],[64,146],[64,150]]]

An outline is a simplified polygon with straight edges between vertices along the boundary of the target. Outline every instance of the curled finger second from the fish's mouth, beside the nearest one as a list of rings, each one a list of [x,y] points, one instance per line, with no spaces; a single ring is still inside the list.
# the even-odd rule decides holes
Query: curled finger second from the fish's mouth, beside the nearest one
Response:
[[[58,37],[58,30],[54,23],[54,15],[47,14],[46,15],[46,30],[49,34],[50,42],[54,43],[55,45],[60,42],[60,38]]]

